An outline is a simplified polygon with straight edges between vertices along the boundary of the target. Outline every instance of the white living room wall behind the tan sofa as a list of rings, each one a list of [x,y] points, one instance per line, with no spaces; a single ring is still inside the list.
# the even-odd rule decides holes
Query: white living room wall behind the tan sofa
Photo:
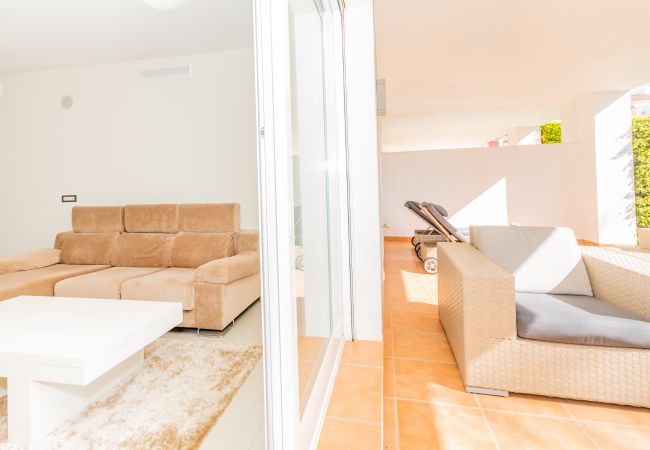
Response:
[[[191,77],[139,79],[188,63]],[[250,49],[0,76],[0,256],[68,230],[62,194],[238,202],[242,227],[257,228],[254,76]]]

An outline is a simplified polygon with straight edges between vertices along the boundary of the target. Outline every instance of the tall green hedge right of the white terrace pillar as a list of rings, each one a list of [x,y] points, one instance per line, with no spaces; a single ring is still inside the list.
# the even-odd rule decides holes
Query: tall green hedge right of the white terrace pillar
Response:
[[[650,117],[632,118],[636,222],[650,228]]]

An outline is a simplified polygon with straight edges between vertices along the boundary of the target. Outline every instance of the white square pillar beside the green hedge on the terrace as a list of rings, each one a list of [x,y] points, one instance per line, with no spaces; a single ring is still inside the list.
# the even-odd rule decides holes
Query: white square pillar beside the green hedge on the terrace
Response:
[[[584,239],[636,245],[632,113],[629,94],[596,93],[562,111],[563,138],[576,142],[576,209]]]

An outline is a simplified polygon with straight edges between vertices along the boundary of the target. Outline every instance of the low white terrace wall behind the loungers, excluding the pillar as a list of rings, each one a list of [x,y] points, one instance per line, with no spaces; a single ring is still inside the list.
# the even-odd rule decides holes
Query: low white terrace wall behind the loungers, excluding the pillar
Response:
[[[456,227],[569,226],[575,206],[575,144],[526,145],[382,154],[382,211],[388,236],[426,227],[407,200],[443,205]]]

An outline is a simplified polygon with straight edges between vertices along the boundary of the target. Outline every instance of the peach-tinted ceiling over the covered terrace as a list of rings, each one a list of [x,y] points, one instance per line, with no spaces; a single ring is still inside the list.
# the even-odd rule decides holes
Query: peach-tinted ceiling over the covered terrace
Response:
[[[480,146],[650,82],[648,0],[376,0],[384,151]]]

